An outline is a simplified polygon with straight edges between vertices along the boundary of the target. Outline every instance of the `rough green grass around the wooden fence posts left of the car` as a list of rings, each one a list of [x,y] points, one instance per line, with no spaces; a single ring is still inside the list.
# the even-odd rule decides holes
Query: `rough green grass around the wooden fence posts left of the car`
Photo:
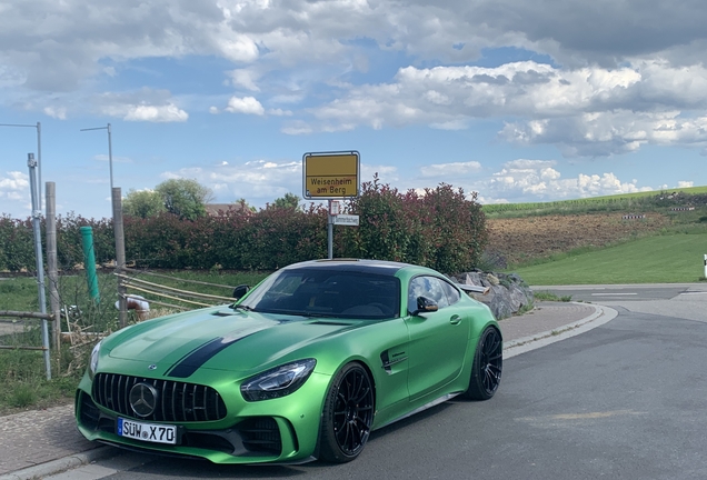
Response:
[[[266,272],[221,272],[217,270],[180,271],[166,274],[168,278],[139,273],[138,278],[183,290],[230,297],[232,287],[242,283],[252,287],[267,276]],[[181,279],[230,287],[186,283]],[[88,327],[89,331],[116,330],[118,328],[118,311],[113,306],[117,300],[116,278],[112,273],[100,272],[98,283],[100,301],[96,303],[89,298],[84,274],[62,276],[59,280],[61,304],[79,306],[82,312],[80,326]],[[145,296],[150,297],[149,294]],[[48,303],[47,309],[49,308]],[[0,310],[39,311],[37,280],[29,277],[1,279]],[[41,346],[40,320],[19,320],[19,324],[24,326],[24,328],[14,333],[0,336],[0,346]],[[67,331],[63,319],[62,331]],[[70,402],[76,386],[83,373],[86,359],[92,344],[83,347],[84,351],[78,351],[78,360],[68,347],[63,344],[61,352],[52,351],[52,380],[50,381],[47,381],[46,378],[41,351],[0,349],[0,414],[27,408],[44,408]],[[71,371],[68,372],[70,367]]]

